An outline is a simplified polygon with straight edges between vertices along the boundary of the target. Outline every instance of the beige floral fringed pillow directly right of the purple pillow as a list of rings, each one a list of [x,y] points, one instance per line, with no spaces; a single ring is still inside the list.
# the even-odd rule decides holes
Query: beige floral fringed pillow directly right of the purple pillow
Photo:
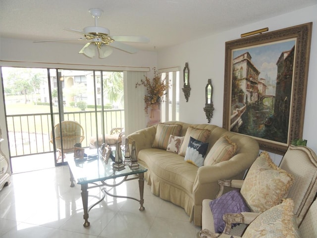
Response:
[[[279,204],[292,184],[292,175],[278,168],[264,151],[251,166],[240,192],[253,212],[264,212]]]

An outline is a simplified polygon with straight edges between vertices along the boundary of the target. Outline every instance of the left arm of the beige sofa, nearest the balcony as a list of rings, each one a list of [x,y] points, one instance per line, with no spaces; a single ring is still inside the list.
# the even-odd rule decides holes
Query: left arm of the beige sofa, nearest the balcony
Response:
[[[129,144],[131,144],[132,141],[135,141],[136,152],[138,155],[140,150],[152,148],[156,132],[157,125],[154,125],[128,135],[127,139]]]

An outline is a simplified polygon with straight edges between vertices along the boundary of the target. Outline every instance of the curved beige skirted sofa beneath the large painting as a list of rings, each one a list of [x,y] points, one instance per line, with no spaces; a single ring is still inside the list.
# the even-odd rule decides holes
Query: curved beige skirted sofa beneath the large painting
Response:
[[[209,143],[206,157],[220,137],[226,136],[230,143],[236,144],[236,153],[231,159],[197,167],[184,161],[184,156],[152,147],[158,136],[159,124],[136,131],[127,137],[130,144],[132,141],[136,143],[138,163],[148,169],[145,179],[151,185],[152,193],[183,207],[190,216],[190,221],[194,220],[195,225],[201,226],[202,201],[215,197],[219,190],[219,179],[243,179],[246,170],[259,155],[259,144],[249,136],[230,132],[216,125],[180,121],[163,124],[181,125],[179,136],[185,136],[188,128],[210,131],[206,140]]]

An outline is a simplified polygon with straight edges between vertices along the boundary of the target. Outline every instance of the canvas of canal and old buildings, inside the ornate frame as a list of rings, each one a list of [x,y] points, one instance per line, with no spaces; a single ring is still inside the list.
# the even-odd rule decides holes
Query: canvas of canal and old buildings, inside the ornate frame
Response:
[[[230,130],[287,142],[295,41],[233,52]]]

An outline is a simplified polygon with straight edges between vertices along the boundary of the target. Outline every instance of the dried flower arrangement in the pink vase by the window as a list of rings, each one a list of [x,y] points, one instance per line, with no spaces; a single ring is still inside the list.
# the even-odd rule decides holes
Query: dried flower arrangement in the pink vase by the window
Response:
[[[147,90],[147,95],[144,96],[145,108],[144,111],[148,114],[148,108],[151,105],[159,104],[162,99],[161,97],[166,94],[166,89],[169,88],[169,84],[166,84],[165,78],[161,80],[161,75],[158,73],[156,68],[154,70],[154,78],[151,80],[147,76],[145,79],[141,79],[140,83],[136,83],[135,87],[143,85]]]

